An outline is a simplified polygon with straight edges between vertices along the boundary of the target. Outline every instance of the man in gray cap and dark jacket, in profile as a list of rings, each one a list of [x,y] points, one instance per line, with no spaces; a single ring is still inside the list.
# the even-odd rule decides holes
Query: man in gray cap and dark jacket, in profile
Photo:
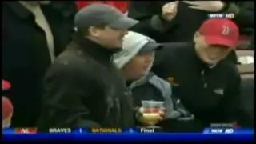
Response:
[[[46,74],[39,130],[134,126],[130,93],[111,57],[136,23],[105,4],[78,11],[74,41]]]

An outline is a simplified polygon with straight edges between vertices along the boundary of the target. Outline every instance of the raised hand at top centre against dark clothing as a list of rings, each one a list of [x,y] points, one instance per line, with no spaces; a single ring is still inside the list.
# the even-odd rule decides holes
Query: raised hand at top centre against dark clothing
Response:
[[[162,6],[162,18],[171,21],[177,14],[178,1],[166,3]]]

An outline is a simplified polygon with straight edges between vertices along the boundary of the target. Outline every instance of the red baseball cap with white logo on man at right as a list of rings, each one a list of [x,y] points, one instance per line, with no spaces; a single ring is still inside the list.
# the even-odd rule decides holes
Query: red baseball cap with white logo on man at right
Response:
[[[228,18],[210,18],[202,23],[198,32],[209,45],[222,45],[234,49],[239,38],[238,26]]]

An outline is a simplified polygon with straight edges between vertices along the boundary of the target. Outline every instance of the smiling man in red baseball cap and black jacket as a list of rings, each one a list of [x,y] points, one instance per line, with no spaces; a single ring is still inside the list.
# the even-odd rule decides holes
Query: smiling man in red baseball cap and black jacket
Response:
[[[153,71],[169,80],[177,95],[204,126],[237,122],[240,75],[226,56],[239,30],[226,18],[203,22],[193,43],[167,43],[157,52]]]

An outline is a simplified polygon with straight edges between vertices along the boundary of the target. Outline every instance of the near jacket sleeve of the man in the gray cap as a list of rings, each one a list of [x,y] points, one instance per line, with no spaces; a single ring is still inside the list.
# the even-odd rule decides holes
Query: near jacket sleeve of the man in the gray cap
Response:
[[[93,83],[85,70],[73,63],[56,62],[46,74],[44,105],[48,117],[58,127],[99,127],[90,119],[90,109],[82,102],[91,96],[88,93]]]

